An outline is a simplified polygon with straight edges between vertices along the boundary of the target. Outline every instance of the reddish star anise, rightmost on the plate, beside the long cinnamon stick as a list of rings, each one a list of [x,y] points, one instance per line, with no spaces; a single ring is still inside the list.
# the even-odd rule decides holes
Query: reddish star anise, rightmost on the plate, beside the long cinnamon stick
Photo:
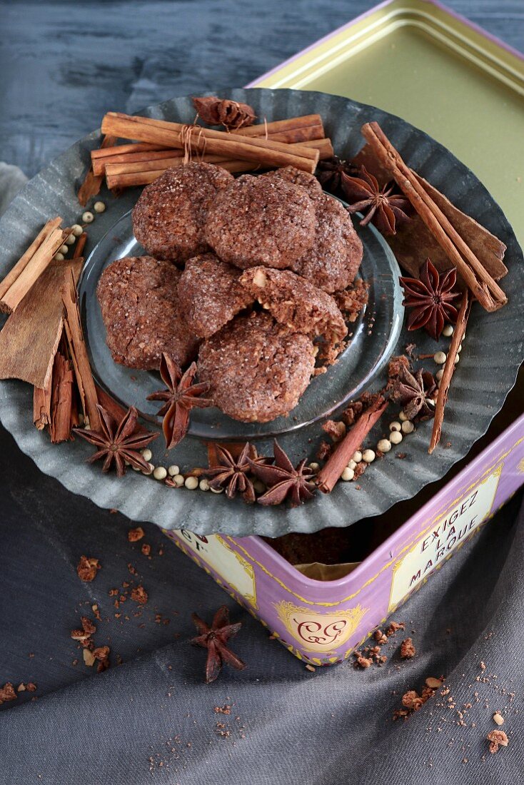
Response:
[[[452,301],[460,294],[453,291],[456,268],[452,267],[440,275],[431,259],[427,259],[420,271],[420,280],[401,278],[400,283],[404,289],[402,305],[412,308],[408,317],[408,330],[425,327],[431,338],[437,341],[445,321],[455,323],[458,316],[457,309],[452,305]]]

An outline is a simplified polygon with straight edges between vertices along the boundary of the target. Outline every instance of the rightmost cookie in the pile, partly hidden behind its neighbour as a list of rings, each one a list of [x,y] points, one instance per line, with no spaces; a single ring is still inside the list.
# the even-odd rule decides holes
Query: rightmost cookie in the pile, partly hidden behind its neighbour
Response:
[[[317,217],[315,242],[289,266],[326,292],[345,289],[362,261],[361,240],[350,214],[337,199],[321,193],[313,198],[313,204]]]

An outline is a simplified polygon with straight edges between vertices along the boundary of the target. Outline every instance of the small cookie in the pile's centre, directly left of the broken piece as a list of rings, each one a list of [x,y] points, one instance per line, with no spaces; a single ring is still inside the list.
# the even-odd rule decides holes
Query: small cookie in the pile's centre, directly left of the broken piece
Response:
[[[185,263],[178,282],[178,300],[186,322],[200,338],[218,332],[253,302],[239,283],[240,275],[238,268],[214,254],[202,254]]]

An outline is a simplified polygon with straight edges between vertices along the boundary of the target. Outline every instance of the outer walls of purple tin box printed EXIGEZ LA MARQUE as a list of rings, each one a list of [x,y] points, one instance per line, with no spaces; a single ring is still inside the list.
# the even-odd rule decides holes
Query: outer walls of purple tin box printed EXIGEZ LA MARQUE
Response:
[[[164,533],[292,654],[339,663],[524,484],[524,415],[349,575],[306,578],[259,537]]]

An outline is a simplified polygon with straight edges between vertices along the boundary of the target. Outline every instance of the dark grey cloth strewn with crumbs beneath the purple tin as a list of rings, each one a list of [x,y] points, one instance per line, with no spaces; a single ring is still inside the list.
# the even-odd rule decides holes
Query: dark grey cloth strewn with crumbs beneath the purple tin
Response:
[[[2,785],[522,782],[519,497],[394,616],[406,630],[384,647],[385,666],[355,670],[348,662],[310,673],[152,524],[131,545],[128,521],[82,498],[64,504],[65,492],[27,458],[13,466],[4,454],[0,467],[10,489],[2,509],[0,681],[38,687],[0,707]],[[143,542],[152,546],[150,560]],[[92,583],[75,573],[82,553],[101,560]],[[130,600],[113,607],[109,591],[123,582],[148,591],[139,617]],[[243,622],[232,648],[247,668],[225,669],[205,685],[205,652],[189,645],[190,614],[210,620],[224,602]],[[113,666],[102,674],[82,663],[69,637],[80,615],[93,619],[92,604],[102,617],[93,639],[112,649]],[[407,635],[417,654],[401,660]],[[402,694],[441,674],[449,695],[395,722]],[[215,712],[225,705],[231,714]],[[496,728],[495,710],[510,744],[492,755],[485,737]]]

